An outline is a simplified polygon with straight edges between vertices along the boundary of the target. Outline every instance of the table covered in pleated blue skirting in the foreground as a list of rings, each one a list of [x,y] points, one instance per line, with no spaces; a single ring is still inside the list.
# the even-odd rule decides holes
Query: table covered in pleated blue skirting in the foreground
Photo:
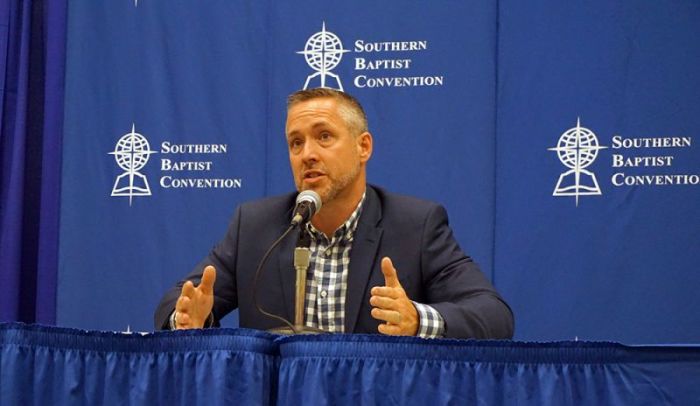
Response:
[[[700,404],[700,346],[8,323],[0,404]]]

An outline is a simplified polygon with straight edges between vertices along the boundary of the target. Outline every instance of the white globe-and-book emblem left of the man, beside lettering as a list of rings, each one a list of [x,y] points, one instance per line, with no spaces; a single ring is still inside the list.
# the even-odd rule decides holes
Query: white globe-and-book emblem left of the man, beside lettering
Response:
[[[148,158],[156,151],[151,151],[148,140],[143,135],[136,132],[136,125],[131,125],[131,132],[124,134],[117,145],[114,146],[114,151],[110,155],[114,155],[124,173],[117,176],[112,187],[112,196],[128,196],[129,206],[134,196],[150,196],[151,188],[148,186],[148,178],[139,171],[146,166]]]

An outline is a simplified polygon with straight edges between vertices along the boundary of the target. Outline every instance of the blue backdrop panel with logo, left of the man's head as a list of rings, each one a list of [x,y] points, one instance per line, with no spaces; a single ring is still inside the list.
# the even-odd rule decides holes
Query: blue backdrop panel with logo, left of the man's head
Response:
[[[152,329],[166,286],[264,194],[265,10],[70,3],[59,324]]]

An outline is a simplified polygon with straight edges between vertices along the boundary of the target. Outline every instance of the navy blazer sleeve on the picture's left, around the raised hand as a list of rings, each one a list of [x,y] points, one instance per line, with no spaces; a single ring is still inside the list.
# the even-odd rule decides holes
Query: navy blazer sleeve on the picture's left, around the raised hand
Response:
[[[202,280],[204,268],[208,265],[213,265],[216,268],[214,307],[212,309],[213,326],[218,327],[221,318],[238,307],[236,261],[240,223],[241,208],[238,207],[224,238],[212,248],[206,258],[195,266],[192,272],[163,295],[154,316],[154,325],[157,330],[170,329],[170,314],[175,310],[175,303],[180,297],[182,285],[187,281],[192,281],[197,286]]]

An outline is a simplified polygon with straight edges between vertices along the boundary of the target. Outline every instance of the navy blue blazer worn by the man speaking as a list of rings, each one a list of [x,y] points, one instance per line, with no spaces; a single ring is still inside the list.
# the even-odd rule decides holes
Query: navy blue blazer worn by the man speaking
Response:
[[[199,283],[204,267],[216,267],[214,322],[239,309],[240,326],[280,327],[253,302],[253,279],[265,251],[287,228],[296,193],[242,204],[226,236],[187,277],[168,291],[155,313],[155,327],[168,328],[168,317],[182,285]],[[293,250],[298,232],[271,253],[258,281],[258,303],[267,312],[294,320]],[[478,265],[452,235],[447,212],[435,203],[367,187],[348,272],[345,331],[378,333],[370,315],[370,289],[384,284],[380,261],[388,256],[408,297],[435,308],[445,320],[446,336],[511,338],[513,315]]]

